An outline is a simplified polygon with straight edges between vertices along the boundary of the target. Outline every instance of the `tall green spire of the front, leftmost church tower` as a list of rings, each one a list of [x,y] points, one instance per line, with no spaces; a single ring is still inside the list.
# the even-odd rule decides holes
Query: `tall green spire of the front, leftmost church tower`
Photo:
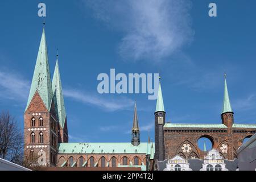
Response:
[[[30,102],[36,90],[38,90],[40,97],[42,98],[44,104],[46,105],[46,108],[49,111],[52,102],[52,84],[49,71],[46,35],[44,34],[44,28],[39,46],[38,57],[36,59],[36,65],[32,78],[32,84],[30,88],[30,94],[28,96],[26,110],[30,105]]]

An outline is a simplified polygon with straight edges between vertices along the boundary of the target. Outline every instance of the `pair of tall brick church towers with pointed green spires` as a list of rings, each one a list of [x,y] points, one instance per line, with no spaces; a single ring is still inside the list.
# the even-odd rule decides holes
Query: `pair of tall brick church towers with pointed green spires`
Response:
[[[35,165],[56,166],[59,142],[68,142],[67,118],[58,63],[51,82],[43,28],[24,111],[24,158]]]

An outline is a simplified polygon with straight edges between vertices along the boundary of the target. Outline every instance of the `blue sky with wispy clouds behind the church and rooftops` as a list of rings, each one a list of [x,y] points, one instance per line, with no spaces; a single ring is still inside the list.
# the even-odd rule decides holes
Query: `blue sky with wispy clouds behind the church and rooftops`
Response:
[[[154,140],[156,101],[147,94],[98,94],[97,76],[158,73],[166,122],[221,123],[224,72],[236,123],[256,122],[256,2],[1,1],[0,110],[23,127],[47,6],[53,75],[56,48],[71,142],[129,142],[134,101],[142,141]],[[208,16],[210,2],[217,17]]]

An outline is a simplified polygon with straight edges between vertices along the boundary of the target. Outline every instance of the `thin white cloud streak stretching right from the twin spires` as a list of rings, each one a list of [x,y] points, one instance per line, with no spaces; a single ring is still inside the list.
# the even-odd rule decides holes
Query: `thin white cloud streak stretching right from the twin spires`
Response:
[[[134,101],[126,97],[104,98],[100,94],[89,94],[75,89],[64,89],[64,96],[73,98],[83,104],[94,105],[107,111],[127,110],[134,105]]]

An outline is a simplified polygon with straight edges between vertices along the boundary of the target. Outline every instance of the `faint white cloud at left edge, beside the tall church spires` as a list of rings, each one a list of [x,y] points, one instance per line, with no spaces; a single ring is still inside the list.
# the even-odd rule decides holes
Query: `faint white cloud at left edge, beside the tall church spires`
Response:
[[[18,73],[0,70],[0,97],[7,100],[26,101],[30,83]]]

